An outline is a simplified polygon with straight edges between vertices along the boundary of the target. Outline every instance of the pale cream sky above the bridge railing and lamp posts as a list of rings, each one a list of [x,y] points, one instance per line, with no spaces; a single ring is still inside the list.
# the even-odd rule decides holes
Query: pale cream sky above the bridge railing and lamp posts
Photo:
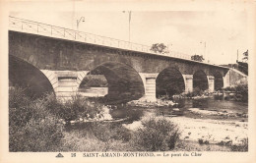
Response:
[[[10,16],[77,29],[121,40],[129,39],[129,14],[103,12],[11,12]],[[164,43],[172,51],[204,55],[211,63],[235,63],[248,47],[246,11],[131,11],[131,42]]]

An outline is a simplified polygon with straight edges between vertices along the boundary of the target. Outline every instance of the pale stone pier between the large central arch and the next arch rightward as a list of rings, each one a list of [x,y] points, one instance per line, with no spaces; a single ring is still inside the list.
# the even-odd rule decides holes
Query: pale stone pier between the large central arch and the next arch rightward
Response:
[[[159,74],[147,74],[147,73],[139,73],[142,78],[145,94],[140,99],[143,101],[154,102],[157,101],[156,97],[156,80]]]

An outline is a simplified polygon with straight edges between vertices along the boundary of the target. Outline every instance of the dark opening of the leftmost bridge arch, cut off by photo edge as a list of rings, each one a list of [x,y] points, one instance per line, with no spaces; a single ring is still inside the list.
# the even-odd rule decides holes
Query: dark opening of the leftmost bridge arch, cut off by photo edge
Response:
[[[51,82],[32,64],[9,55],[9,86],[21,86],[32,97],[54,92]]]

